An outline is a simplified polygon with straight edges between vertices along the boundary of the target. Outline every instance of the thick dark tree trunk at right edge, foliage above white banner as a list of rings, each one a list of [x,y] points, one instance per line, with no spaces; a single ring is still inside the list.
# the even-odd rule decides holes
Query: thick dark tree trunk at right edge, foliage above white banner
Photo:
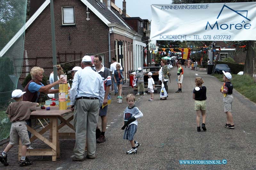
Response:
[[[172,4],[200,4],[200,3],[235,3],[254,2],[253,0],[172,0]],[[244,73],[253,75],[253,59],[255,58],[255,41],[244,41],[246,44],[246,59],[244,63]]]

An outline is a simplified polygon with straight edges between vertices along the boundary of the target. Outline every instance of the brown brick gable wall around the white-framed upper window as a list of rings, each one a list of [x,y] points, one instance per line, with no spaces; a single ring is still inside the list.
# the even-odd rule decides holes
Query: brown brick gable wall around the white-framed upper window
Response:
[[[75,7],[76,26],[62,26],[62,6]],[[103,23],[92,11],[89,10],[87,21],[86,6],[80,0],[55,0],[55,36],[57,53],[80,53],[82,57],[86,54],[105,55],[105,66],[109,67],[108,56],[108,26]],[[35,65],[44,68],[45,75],[52,72],[52,35],[51,35],[51,13],[50,5],[36,18],[25,33],[25,50],[28,53],[29,71]],[[114,49],[114,47],[111,47]],[[76,55],[78,59],[80,55]],[[25,52],[24,52],[25,57]],[[48,58],[47,58],[48,57]],[[58,57],[58,55],[57,55]],[[37,58],[37,60],[36,60]],[[64,63],[65,60],[74,60],[74,55],[60,55],[57,63]],[[76,63],[77,65],[79,65]],[[26,61],[23,61],[22,75],[20,82],[26,76]]]

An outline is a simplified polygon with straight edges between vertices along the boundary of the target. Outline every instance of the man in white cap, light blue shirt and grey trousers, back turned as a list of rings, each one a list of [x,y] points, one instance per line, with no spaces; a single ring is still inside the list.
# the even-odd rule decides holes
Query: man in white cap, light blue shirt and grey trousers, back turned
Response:
[[[71,110],[74,110],[74,128],[76,132],[75,157],[73,161],[84,160],[87,142],[88,159],[95,159],[96,136],[99,108],[104,98],[103,80],[92,70],[92,59],[85,55],[81,62],[82,70],[75,73],[70,90]]]

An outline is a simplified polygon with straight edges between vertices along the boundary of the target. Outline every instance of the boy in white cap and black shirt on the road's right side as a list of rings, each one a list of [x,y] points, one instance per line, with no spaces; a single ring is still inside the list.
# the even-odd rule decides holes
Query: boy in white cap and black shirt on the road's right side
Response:
[[[224,112],[227,115],[227,123],[224,127],[227,129],[234,129],[234,120],[231,113],[232,108],[232,102],[233,102],[233,85],[231,84],[230,80],[232,78],[231,74],[229,72],[223,71],[223,88],[220,89],[220,92],[223,93],[223,104],[224,104]]]

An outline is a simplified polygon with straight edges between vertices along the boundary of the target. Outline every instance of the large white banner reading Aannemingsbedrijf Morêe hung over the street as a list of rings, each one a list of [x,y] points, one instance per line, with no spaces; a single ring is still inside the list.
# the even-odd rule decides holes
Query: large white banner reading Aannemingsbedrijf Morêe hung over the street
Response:
[[[151,40],[256,40],[256,2],[151,5]]]

